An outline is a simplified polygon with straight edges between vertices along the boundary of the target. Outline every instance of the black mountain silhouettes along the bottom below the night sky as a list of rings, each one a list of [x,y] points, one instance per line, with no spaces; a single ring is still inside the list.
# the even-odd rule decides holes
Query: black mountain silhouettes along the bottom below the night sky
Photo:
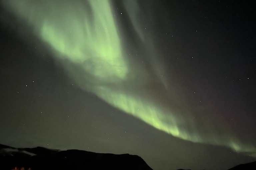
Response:
[[[0,144],[0,170],[152,170],[137,155],[57,150],[43,147],[14,148]],[[182,169],[180,169],[182,170]],[[228,170],[256,170],[256,161]]]

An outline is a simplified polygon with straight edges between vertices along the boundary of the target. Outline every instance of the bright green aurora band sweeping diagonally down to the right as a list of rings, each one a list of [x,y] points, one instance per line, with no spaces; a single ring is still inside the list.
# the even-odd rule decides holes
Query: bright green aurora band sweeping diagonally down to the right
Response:
[[[145,37],[150,35],[144,35],[137,19],[140,10],[137,2],[123,2],[138,37],[148,45]],[[148,97],[150,91],[139,90],[149,82],[147,72],[131,66],[129,55],[122,50],[124,40],[109,1],[3,0],[2,3],[48,44],[55,59],[81,89],[175,137],[255,154],[255,146],[242,143],[228,132],[214,135],[211,125],[202,130],[191,121],[191,116],[182,116],[181,111]]]

